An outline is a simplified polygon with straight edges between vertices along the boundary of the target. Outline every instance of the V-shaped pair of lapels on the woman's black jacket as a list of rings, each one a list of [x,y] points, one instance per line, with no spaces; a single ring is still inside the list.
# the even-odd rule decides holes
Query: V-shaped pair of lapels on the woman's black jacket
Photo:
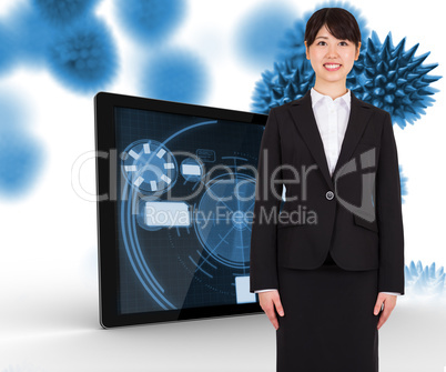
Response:
[[[333,177],[336,174],[339,167],[342,167],[356,148],[364,129],[371,119],[369,108],[359,101],[351,91],[351,111],[345,131],[344,141],[341,147],[339,158],[337,160]],[[300,131],[303,140],[306,142],[313,158],[315,159],[324,179],[326,180],[331,190],[334,189],[333,178],[330,175],[328,164],[325,157],[324,144],[322,142],[321,133],[317,128],[316,119],[312,108],[311,91],[308,90],[304,97],[292,102],[292,117],[294,124]]]

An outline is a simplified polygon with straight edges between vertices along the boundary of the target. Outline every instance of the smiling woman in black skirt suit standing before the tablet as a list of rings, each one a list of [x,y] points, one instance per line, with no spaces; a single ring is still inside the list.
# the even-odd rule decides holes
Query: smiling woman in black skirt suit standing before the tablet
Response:
[[[361,49],[348,11],[316,11],[304,42],[315,84],[273,108],[262,138],[250,290],[278,372],[376,372],[378,329],[404,294],[392,120],[346,88]]]

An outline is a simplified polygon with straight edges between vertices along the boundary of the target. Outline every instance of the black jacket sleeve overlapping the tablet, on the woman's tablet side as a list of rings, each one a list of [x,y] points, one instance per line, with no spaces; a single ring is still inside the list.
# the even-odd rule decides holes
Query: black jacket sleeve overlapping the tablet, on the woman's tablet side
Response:
[[[251,225],[250,292],[277,289],[276,225],[282,200],[281,139],[275,109],[263,132]]]

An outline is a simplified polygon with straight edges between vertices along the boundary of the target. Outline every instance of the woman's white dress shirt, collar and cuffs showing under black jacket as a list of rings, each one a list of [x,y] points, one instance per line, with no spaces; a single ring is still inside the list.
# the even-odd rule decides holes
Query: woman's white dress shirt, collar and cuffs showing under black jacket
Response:
[[[333,100],[330,95],[321,94],[312,88],[311,97],[314,117],[324,144],[330,174],[333,175],[348,124],[352,101],[351,92],[348,89],[344,95]],[[274,289],[259,290],[255,293],[266,291],[274,291]],[[401,295],[397,292],[381,293]]]

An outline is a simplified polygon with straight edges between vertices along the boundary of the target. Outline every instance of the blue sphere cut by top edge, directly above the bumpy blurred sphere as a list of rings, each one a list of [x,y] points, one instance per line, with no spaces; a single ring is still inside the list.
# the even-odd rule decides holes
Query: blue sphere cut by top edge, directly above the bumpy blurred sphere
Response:
[[[92,10],[98,0],[32,0],[44,20],[64,27]]]

